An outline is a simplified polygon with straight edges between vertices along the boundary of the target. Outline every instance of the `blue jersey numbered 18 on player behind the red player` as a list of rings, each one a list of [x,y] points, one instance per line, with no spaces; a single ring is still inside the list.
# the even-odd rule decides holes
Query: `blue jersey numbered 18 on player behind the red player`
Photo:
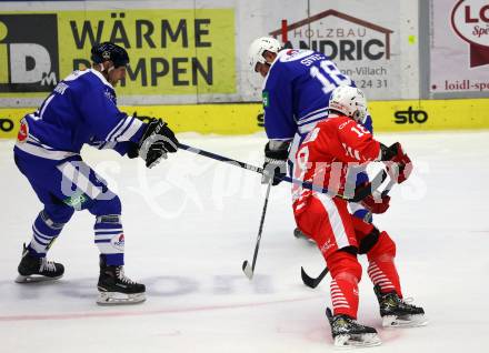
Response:
[[[322,53],[286,49],[278,53],[263,82],[265,130],[270,140],[292,140],[306,134],[328,115],[331,91],[355,85]],[[371,130],[371,119],[367,128]]]

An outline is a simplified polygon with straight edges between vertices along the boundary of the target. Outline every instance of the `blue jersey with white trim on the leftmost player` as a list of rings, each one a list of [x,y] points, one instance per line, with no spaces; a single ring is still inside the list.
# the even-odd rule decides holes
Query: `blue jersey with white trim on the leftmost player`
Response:
[[[100,72],[74,71],[24,117],[16,148],[51,160],[79,154],[84,143],[124,154],[144,125],[117,108],[113,87]]]

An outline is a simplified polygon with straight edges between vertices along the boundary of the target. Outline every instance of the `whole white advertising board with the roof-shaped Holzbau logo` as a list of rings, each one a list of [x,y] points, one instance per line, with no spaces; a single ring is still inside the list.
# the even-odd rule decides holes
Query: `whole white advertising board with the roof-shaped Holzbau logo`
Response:
[[[412,89],[418,85],[416,4],[269,0],[256,12],[267,21],[262,21],[261,32],[258,28],[242,34],[248,46],[257,37],[271,36],[288,48],[322,52],[365,90],[369,100],[418,93]],[[258,83],[253,87],[261,89]]]

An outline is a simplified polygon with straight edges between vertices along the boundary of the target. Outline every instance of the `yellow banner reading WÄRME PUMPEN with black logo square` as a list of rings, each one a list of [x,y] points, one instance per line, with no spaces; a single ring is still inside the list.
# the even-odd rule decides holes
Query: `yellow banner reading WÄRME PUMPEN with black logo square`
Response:
[[[103,41],[129,53],[119,95],[234,93],[233,28],[233,9],[0,12],[0,97],[50,92]]]

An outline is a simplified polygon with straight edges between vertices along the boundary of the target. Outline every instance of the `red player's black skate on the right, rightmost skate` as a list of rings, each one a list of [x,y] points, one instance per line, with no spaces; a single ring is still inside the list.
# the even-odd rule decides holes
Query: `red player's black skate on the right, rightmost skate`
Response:
[[[409,304],[395,291],[382,294],[379,285],[376,285],[373,291],[379,301],[383,327],[415,327],[428,323],[422,307]]]

